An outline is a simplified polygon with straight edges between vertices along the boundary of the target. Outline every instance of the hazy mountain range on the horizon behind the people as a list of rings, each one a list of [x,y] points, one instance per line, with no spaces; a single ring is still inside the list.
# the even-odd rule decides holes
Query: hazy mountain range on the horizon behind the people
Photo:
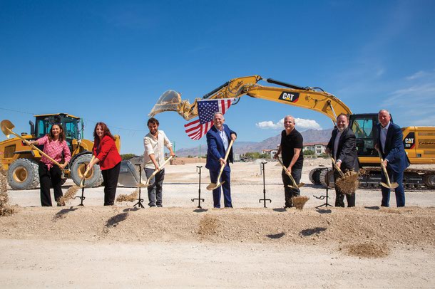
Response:
[[[331,138],[331,129],[327,130],[305,130],[301,132],[304,137],[304,143],[308,142],[328,142]],[[269,137],[262,142],[235,142],[234,153],[245,154],[246,152],[261,152],[262,149],[276,149],[280,144],[281,134],[275,135],[275,137]],[[178,149],[176,154],[178,157],[198,156],[200,147],[190,147],[185,149]],[[201,148],[201,154],[205,155],[207,152],[205,147]]]

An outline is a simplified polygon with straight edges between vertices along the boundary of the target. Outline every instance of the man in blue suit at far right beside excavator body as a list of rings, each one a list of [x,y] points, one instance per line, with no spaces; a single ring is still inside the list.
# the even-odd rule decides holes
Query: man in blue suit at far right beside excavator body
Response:
[[[403,133],[398,125],[391,122],[391,115],[388,110],[379,110],[378,140],[376,148],[380,149],[384,166],[387,168],[387,173],[390,182],[396,182],[399,186],[396,187],[396,204],[397,206],[405,206],[405,191],[403,186],[404,170],[409,167],[409,159],[406,156]],[[387,182],[387,178],[382,174],[382,182]],[[390,189],[381,186],[382,203],[381,206],[389,206]]]

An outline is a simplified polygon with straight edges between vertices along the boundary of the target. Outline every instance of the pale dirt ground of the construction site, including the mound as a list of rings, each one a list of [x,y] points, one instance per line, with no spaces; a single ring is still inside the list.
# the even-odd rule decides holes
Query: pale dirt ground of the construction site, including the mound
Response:
[[[15,213],[0,217],[1,288],[434,288],[435,191],[406,191],[406,207],[380,207],[380,189],[357,190],[357,206],[320,206],[309,184],[304,209],[283,209],[281,167],[232,165],[234,209],[213,209],[203,164],[165,167],[163,208],[103,206],[103,187],[66,206],[42,208],[39,189],[9,190]],[[71,181],[63,186],[65,193]],[[136,188],[119,187],[117,195]],[[77,191],[77,196],[81,190]],[[329,204],[334,204],[329,189]],[[136,202],[136,201],[135,201]],[[317,207],[319,206],[319,207]]]

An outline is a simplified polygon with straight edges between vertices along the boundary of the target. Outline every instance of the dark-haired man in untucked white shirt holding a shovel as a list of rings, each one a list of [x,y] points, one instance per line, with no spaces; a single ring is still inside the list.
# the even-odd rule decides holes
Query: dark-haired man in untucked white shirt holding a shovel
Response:
[[[143,167],[146,177],[149,178],[155,170],[159,170],[153,179],[150,179],[150,186],[148,186],[148,205],[162,206],[163,201],[163,179],[165,179],[165,169],[160,169],[160,166],[165,162],[164,149],[169,149],[170,155],[175,157],[168,137],[166,137],[163,130],[158,130],[159,122],[154,117],[151,117],[148,122],[148,129],[150,132],[143,137]]]

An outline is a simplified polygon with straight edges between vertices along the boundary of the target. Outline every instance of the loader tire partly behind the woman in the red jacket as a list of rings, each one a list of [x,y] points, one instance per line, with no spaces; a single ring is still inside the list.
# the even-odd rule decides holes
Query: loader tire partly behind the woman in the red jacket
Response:
[[[74,184],[80,185],[81,178],[86,170],[86,165],[91,162],[92,154],[83,154],[73,162],[71,165],[71,179]],[[85,178],[85,186],[95,187],[103,184],[103,174],[98,164],[94,164],[92,169],[89,170],[88,176]]]

